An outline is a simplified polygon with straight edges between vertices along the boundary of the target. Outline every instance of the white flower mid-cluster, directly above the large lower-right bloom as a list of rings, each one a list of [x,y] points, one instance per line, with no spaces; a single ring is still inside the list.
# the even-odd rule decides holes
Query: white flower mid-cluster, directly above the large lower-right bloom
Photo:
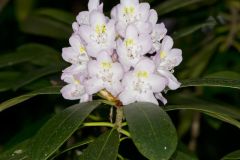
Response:
[[[117,54],[119,61],[128,71],[151,49],[152,42],[149,35],[138,34],[134,25],[129,25],[126,30],[126,38],[117,41]]]

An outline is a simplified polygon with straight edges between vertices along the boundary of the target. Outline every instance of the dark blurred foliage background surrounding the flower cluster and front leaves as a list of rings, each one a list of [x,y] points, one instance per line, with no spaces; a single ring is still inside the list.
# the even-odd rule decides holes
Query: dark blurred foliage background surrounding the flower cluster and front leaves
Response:
[[[104,2],[106,13],[118,3]],[[175,47],[183,50],[183,62],[175,71],[183,85],[166,94],[169,105],[164,108],[180,141],[172,159],[217,160],[235,150],[222,159],[239,159],[240,1],[147,2],[158,11]],[[66,66],[61,48],[68,45],[71,23],[79,11],[86,10],[86,4],[87,0],[0,1],[0,151],[17,144],[26,147],[27,139],[51,115],[76,103],[59,95],[60,74]],[[104,119],[108,112],[103,105],[88,119]],[[102,127],[101,132],[105,130]],[[114,133],[107,132],[113,137]],[[76,131],[55,156],[76,158],[78,149],[92,142],[80,143],[79,139],[98,135],[95,128]],[[71,147],[74,144],[76,147]],[[4,156],[11,155],[18,145]],[[90,146],[94,145],[98,144]],[[144,159],[129,139],[121,143],[119,153],[119,159]]]

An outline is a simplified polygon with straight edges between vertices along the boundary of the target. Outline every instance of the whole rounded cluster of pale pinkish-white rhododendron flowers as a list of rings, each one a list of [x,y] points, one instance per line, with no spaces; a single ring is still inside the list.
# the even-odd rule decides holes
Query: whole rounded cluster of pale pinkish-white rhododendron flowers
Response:
[[[164,104],[161,92],[175,90],[180,83],[173,75],[182,61],[182,51],[173,48],[158,15],[148,3],[120,0],[111,11],[103,13],[99,0],[89,0],[88,11],[80,12],[73,23],[70,47],[62,57],[71,63],[61,79],[65,99],[91,101],[106,90],[123,105],[133,102]]]

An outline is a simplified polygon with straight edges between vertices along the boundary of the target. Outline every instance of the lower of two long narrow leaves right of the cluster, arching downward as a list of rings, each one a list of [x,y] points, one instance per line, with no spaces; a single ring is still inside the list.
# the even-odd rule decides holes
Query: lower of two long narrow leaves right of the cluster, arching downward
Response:
[[[225,114],[224,112],[222,112],[221,107],[211,106],[211,105],[198,105],[198,104],[169,105],[165,107],[165,111],[182,110],[182,109],[199,111],[240,128],[240,122],[231,118],[229,115]]]

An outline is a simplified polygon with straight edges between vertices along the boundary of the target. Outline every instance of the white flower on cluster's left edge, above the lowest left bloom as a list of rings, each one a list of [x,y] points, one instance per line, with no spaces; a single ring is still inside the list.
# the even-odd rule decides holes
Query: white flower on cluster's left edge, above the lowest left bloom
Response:
[[[78,35],[73,34],[69,39],[69,43],[71,47],[62,50],[62,57],[65,61],[78,64],[89,60],[84,43]]]

